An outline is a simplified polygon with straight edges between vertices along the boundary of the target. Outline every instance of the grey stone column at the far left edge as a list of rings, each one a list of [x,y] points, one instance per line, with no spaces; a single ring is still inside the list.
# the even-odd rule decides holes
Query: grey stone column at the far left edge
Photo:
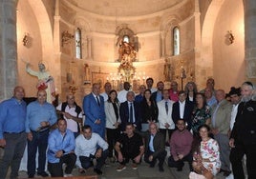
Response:
[[[0,1],[0,101],[17,85],[17,0]]]

